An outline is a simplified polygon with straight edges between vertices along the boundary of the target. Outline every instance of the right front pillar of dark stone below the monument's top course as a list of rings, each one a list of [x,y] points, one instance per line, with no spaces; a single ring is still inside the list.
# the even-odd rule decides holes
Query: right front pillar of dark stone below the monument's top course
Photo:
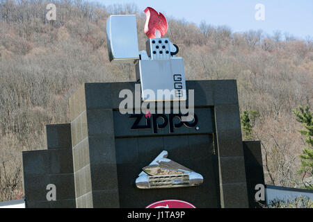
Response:
[[[234,101],[236,102],[236,101]],[[216,105],[216,141],[222,207],[248,207],[245,162],[238,104]],[[240,186],[240,191],[238,191]],[[238,203],[235,204],[235,202]]]

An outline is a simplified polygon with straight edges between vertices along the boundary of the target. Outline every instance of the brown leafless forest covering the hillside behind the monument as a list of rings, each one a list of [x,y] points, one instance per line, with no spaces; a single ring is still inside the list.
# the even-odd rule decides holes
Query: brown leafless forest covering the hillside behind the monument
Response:
[[[145,49],[144,8],[61,0],[49,22],[50,2],[0,0],[0,201],[22,198],[21,151],[44,149],[45,125],[69,122],[68,99],[79,85],[135,80],[133,65],[109,63],[106,18],[136,13]],[[305,142],[292,110],[312,104],[313,39],[167,19],[186,78],[236,79],[241,112],[256,111],[249,139],[262,141],[266,183],[300,184]]]

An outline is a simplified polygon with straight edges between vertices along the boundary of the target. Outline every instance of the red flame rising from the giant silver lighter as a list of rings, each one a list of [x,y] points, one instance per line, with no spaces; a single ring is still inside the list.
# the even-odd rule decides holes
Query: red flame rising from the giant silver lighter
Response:
[[[145,10],[145,35],[150,39],[155,37],[157,29],[161,33],[161,37],[168,31],[168,22],[162,13],[157,12],[153,8],[147,7]]]

